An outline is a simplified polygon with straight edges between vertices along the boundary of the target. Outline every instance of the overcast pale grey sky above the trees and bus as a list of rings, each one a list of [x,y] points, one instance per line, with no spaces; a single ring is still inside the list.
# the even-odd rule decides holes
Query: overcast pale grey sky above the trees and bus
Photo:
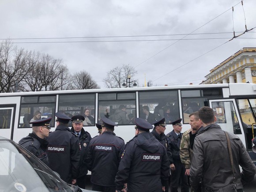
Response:
[[[0,38],[68,38],[13,42],[105,41],[15,44],[62,59],[72,73],[86,70],[101,88],[105,87],[102,80],[106,72],[122,64],[136,67],[134,78],[140,86],[144,85],[144,74],[146,81],[158,86],[199,84],[233,53],[256,47],[256,39],[252,39],[256,29],[224,45],[233,34],[208,34],[232,32],[234,23],[238,35],[245,31],[245,18],[248,30],[256,27],[256,0],[244,0],[243,4],[245,16],[241,0],[0,0]],[[185,37],[192,31],[193,35]],[[171,41],[181,38],[221,39]]]

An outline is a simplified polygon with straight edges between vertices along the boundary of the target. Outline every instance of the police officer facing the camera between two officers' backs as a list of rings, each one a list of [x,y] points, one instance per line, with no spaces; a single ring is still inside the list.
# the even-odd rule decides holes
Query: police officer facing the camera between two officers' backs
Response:
[[[80,165],[79,165],[79,175],[76,179],[76,184],[80,188],[85,188],[86,175],[88,173],[88,168],[86,163],[83,162],[85,155],[87,154],[87,149],[89,142],[91,140],[90,133],[83,129],[83,121],[85,118],[82,115],[75,115],[71,117],[72,128],[71,132],[78,136],[79,138],[79,150],[81,152]]]

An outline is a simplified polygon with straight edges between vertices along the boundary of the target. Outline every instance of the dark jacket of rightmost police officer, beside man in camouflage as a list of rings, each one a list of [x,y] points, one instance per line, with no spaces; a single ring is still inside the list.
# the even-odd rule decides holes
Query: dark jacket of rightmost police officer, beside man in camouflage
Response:
[[[180,133],[180,136],[177,136],[173,131],[169,132],[166,137],[168,141],[168,145],[170,146],[172,157],[170,158],[170,163],[173,162],[181,162],[180,158],[180,146],[181,146],[181,137],[183,133]]]

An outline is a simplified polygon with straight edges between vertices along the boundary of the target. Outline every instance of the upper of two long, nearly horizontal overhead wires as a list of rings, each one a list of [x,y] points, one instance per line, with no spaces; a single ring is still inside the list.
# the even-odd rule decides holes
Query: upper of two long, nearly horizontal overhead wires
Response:
[[[243,31],[237,31],[242,33]],[[123,36],[95,36],[95,37],[66,37],[66,38],[0,38],[0,40],[26,40],[26,39],[82,39],[82,38],[133,38],[133,37],[159,37],[159,36],[178,36],[178,35],[205,35],[205,34],[230,34],[233,32],[218,33],[197,33],[197,34],[158,34],[158,35],[123,35]],[[252,31],[251,33],[256,33]]]

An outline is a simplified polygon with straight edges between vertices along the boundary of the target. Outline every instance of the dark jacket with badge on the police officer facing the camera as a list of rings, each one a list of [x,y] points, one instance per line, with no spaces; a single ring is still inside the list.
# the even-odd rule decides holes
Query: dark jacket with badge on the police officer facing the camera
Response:
[[[71,128],[71,132],[75,133],[74,128]],[[89,142],[91,140],[90,133],[85,131],[83,128],[81,129],[81,134],[79,135],[79,150],[81,152],[80,162],[79,162],[79,175],[78,177],[82,177],[87,175],[88,167],[87,164],[84,163],[85,155],[88,151]]]

